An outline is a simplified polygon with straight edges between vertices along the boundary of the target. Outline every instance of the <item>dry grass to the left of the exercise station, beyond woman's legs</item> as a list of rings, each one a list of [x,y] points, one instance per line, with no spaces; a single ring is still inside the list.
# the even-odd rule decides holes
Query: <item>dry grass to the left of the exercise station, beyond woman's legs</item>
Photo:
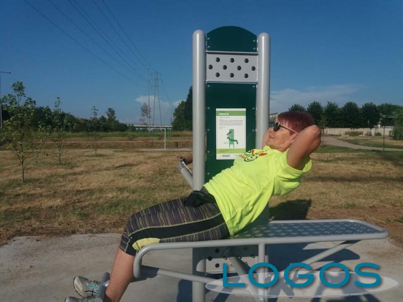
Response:
[[[135,211],[190,191],[176,153],[69,150],[69,165],[39,156],[27,182],[10,152],[1,152],[0,242],[14,236],[120,232]],[[56,161],[56,160],[54,160]]]

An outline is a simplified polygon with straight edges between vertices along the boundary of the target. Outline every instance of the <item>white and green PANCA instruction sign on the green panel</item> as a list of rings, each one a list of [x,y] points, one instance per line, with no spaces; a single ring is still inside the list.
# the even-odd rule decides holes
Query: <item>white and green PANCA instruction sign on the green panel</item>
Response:
[[[216,109],[217,160],[235,159],[246,152],[246,109]]]

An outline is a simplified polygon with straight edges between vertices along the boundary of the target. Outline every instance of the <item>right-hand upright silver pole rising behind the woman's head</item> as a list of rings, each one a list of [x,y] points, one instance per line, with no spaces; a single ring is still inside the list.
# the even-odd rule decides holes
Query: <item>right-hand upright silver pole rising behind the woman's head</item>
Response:
[[[263,134],[268,128],[270,98],[270,36],[257,37],[257,92],[256,92],[256,148],[261,147]]]

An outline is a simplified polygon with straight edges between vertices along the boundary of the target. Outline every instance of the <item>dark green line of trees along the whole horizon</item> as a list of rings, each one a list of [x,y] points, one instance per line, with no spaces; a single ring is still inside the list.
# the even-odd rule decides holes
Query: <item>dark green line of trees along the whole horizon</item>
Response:
[[[3,101],[6,99],[7,96],[3,98]],[[34,129],[54,126],[50,118],[52,109],[49,106],[34,105],[33,107],[31,126]],[[307,108],[296,103],[289,108],[289,111],[292,110],[309,112],[320,128],[373,128],[379,122],[382,126],[393,126],[393,116],[396,112],[403,110],[403,106],[389,103],[375,105],[369,102],[359,107],[355,102],[347,102],[343,107],[339,107],[335,102],[327,102],[325,106],[322,106],[319,102],[313,101]],[[2,116],[3,122],[10,118],[7,107],[3,107]],[[106,110],[105,115],[91,118],[75,117],[71,113],[60,110],[60,118],[65,125],[64,130],[69,132],[91,132],[94,130],[94,125],[100,132],[138,130],[132,125],[119,122],[116,119],[115,110],[111,107]],[[143,121],[143,124],[147,124],[147,121]],[[192,130],[192,87],[189,88],[186,100],[180,102],[173,112],[172,130]]]

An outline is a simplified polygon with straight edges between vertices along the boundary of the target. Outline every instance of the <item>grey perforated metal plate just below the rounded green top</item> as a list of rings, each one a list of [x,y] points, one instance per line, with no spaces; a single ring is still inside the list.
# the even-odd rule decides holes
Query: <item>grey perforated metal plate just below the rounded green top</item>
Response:
[[[207,82],[257,82],[257,54],[207,53]]]

